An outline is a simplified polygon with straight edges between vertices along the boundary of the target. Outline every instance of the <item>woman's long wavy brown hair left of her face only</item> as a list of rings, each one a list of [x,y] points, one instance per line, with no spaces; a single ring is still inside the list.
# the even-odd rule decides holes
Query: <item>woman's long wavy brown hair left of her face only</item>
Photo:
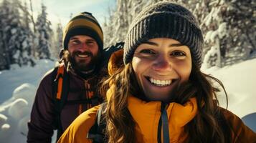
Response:
[[[127,108],[131,72],[130,64],[122,66],[103,82],[100,91],[105,95],[109,88],[112,89],[106,112],[108,142],[136,142],[135,124]]]

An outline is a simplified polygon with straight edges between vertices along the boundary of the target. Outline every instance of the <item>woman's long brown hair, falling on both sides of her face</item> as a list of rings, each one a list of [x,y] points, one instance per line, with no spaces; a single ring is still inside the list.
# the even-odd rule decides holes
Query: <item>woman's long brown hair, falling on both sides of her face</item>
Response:
[[[177,90],[176,97],[171,98],[170,102],[184,104],[191,97],[196,97],[198,114],[185,126],[185,133],[188,134],[186,142],[224,143],[231,140],[231,129],[220,112],[221,108],[217,100],[216,92],[219,89],[213,87],[212,81],[219,83],[224,89],[222,82],[203,74],[192,62],[189,82]],[[136,142],[135,123],[127,108],[128,95],[138,89],[131,63],[120,67],[115,74],[103,82],[101,94],[106,94],[110,87],[112,92],[106,114],[108,142]],[[227,98],[225,89],[224,92]]]

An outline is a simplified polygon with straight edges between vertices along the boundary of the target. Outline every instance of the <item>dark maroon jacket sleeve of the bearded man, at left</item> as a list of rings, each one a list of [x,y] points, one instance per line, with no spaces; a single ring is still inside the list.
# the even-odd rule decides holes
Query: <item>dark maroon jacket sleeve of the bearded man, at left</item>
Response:
[[[27,142],[51,142],[53,134],[52,74],[47,74],[39,84],[34,99]]]

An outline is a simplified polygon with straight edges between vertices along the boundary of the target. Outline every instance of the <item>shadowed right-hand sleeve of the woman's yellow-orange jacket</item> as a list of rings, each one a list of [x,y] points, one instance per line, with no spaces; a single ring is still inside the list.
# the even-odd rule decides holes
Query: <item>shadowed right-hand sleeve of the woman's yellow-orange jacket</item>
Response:
[[[228,110],[224,110],[224,117],[232,128],[232,142],[256,142],[256,133],[247,127],[239,117]]]

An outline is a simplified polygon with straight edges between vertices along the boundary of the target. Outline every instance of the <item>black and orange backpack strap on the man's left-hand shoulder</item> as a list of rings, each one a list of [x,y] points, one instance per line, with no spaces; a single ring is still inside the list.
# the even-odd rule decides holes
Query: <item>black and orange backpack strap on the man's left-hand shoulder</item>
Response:
[[[53,83],[52,83],[52,96],[54,101],[54,129],[57,129],[57,139],[63,133],[60,114],[62,109],[67,101],[67,94],[70,87],[70,76],[65,70],[64,63],[61,63],[59,66],[54,68],[53,74]]]

